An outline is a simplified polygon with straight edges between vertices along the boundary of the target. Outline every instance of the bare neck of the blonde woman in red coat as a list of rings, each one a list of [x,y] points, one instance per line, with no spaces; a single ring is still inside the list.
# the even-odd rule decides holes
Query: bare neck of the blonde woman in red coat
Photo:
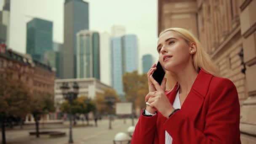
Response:
[[[189,65],[188,67],[182,69],[180,72],[177,72],[175,75],[176,80],[179,83],[179,93],[183,96],[187,96],[198,75],[197,71],[195,70],[193,65]]]

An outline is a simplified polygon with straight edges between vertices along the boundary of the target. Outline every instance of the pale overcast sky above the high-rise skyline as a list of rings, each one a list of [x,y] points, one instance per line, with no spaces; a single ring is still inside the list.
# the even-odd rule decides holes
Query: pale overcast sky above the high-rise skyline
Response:
[[[111,33],[112,25],[123,25],[139,38],[139,59],[146,53],[157,58],[157,0],[84,1],[89,3],[89,29]],[[63,43],[63,10],[64,0],[11,0],[10,47],[26,52],[26,23],[33,17],[53,21],[53,41]]]

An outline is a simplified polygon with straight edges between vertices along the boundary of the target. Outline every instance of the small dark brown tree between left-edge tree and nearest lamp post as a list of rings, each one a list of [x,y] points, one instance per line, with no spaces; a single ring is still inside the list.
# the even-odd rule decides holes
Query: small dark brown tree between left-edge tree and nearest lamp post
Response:
[[[53,96],[49,93],[43,93],[32,97],[30,104],[31,113],[35,119],[36,137],[39,137],[39,120],[42,115],[54,112]]]

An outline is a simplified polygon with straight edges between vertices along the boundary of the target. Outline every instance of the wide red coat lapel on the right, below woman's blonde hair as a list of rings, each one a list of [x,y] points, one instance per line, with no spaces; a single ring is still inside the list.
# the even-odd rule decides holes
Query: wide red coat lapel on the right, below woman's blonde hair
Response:
[[[213,75],[200,70],[187,98],[181,106],[181,110],[184,111],[193,121],[200,112],[212,77]]]

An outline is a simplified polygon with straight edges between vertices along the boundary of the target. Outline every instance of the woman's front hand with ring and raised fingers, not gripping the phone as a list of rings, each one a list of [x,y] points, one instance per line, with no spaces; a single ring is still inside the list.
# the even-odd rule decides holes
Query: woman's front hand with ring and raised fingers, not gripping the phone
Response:
[[[164,78],[161,85],[159,85],[157,83],[157,81],[152,77],[152,74],[151,74],[149,76],[149,81],[150,81],[150,83],[152,83],[152,86],[154,86],[156,91],[149,92],[147,94],[147,96],[145,97],[145,101],[147,101],[150,104],[150,106],[146,107],[146,110],[148,111],[148,109],[149,109],[148,107],[155,108],[164,117],[168,118],[169,115],[171,114],[171,112],[173,112],[174,108],[171,105],[167,96],[165,95],[166,78]],[[152,110],[152,109],[149,109],[149,110]],[[152,113],[152,111],[150,113]],[[155,113],[155,112],[153,112],[153,113]]]

